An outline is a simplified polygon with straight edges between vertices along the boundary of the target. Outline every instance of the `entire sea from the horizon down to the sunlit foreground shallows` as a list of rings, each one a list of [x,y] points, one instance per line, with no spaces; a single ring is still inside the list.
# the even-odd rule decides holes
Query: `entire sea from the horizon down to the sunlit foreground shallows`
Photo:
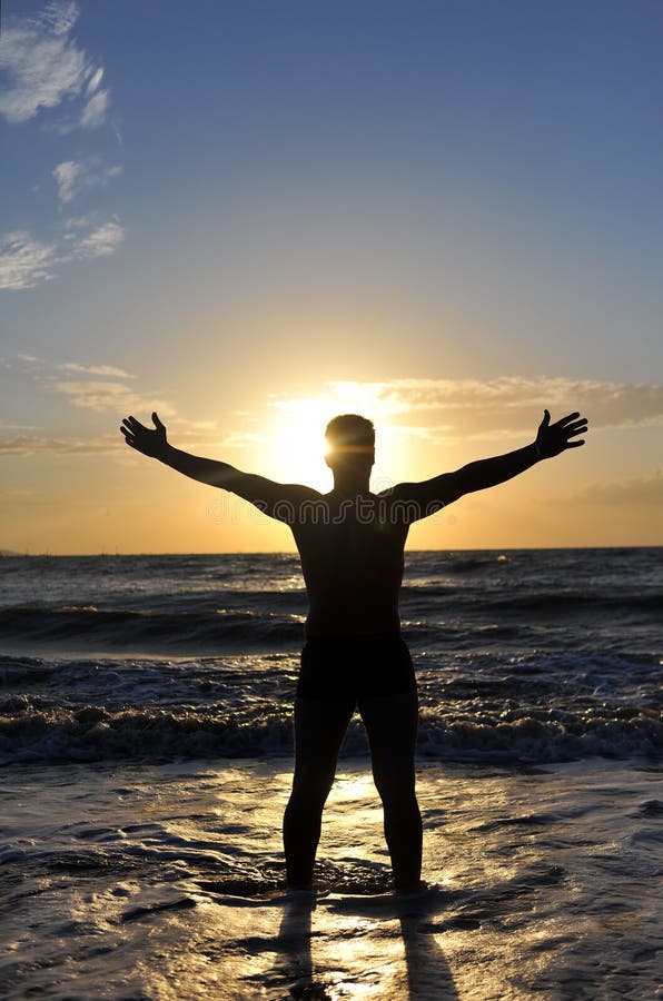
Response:
[[[662,571],[406,553],[432,890],[403,910],[358,716],[319,892],[283,889],[295,555],[1,557],[4,995],[663,995]]]

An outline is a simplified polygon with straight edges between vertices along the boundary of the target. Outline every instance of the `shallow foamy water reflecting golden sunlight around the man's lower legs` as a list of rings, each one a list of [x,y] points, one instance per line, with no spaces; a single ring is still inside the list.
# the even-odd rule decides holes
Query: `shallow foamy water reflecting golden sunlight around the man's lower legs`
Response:
[[[316,894],[286,893],[286,762],[16,766],[8,998],[653,998],[661,771],[425,764],[424,876],[389,892],[366,762],[339,769]]]

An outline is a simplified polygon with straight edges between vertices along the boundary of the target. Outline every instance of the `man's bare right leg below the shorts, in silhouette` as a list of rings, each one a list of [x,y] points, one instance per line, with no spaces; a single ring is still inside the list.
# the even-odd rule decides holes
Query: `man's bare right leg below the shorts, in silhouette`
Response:
[[[385,838],[394,884],[415,890],[422,875],[422,815],[415,794],[416,692],[359,698],[368,734],[373,777],[385,811]]]

